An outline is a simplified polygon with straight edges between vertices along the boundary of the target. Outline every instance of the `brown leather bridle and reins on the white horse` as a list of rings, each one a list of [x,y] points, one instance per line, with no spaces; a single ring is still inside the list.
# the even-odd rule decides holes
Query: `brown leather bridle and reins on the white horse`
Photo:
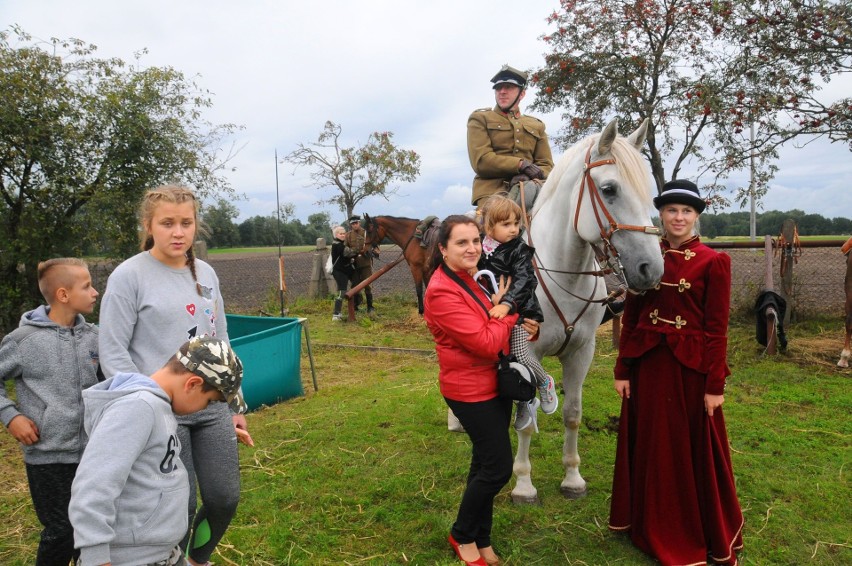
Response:
[[[604,275],[608,275],[610,273],[615,273],[616,276],[619,279],[620,284],[624,288],[629,289],[629,285],[627,283],[627,277],[624,275],[624,268],[621,264],[621,258],[618,254],[618,250],[616,249],[615,245],[612,243],[613,234],[615,234],[619,230],[629,230],[629,231],[633,231],[633,232],[642,232],[644,234],[651,234],[651,235],[659,236],[660,235],[660,229],[657,228],[656,226],[637,226],[637,225],[634,225],[634,224],[619,224],[618,222],[615,221],[615,219],[612,217],[612,214],[610,214],[609,210],[607,209],[606,204],[604,203],[603,198],[601,197],[601,194],[600,194],[600,191],[598,190],[597,185],[595,185],[595,180],[592,179],[592,169],[594,169],[595,167],[600,167],[602,165],[615,165],[615,159],[610,158],[610,159],[600,159],[600,160],[594,161],[594,162],[591,161],[592,146],[593,145],[594,145],[594,143],[590,144],[589,148],[586,150],[586,159],[585,159],[585,163],[583,164],[583,181],[580,184],[580,194],[577,198],[577,209],[574,211],[574,231],[579,233],[578,230],[577,230],[577,227],[578,227],[579,218],[580,218],[580,208],[583,205],[583,194],[586,191],[586,185],[588,185],[588,187],[589,187],[589,189],[588,189],[589,200],[591,201],[592,209],[595,212],[595,221],[598,223],[598,228],[600,230],[601,241],[603,243],[603,246],[602,247],[597,246],[596,244],[593,244],[592,242],[588,242],[588,244],[592,248],[592,250],[594,250],[595,256],[598,259],[598,263],[601,264],[601,266],[605,265],[606,268],[601,269],[601,270],[597,270],[597,271],[575,271],[575,272],[560,271],[559,273],[567,273],[567,274],[571,274],[571,275],[594,275],[596,277],[603,277]],[[521,183],[520,190],[521,190],[521,207],[523,209],[524,219],[526,220],[527,219],[527,212],[526,212],[526,206],[525,206],[525,203],[524,203],[523,183]],[[606,224],[604,224],[604,222],[601,220],[601,213],[603,213],[604,217],[606,218],[606,221],[607,221]],[[532,241],[532,233],[530,231],[530,224],[531,223],[532,223],[532,219],[529,219],[529,221],[527,221],[527,239],[529,240],[530,247],[535,248],[535,246],[533,245],[533,241]],[[551,272],[551,271],[554,271],[554,270],[546,269],[544,267],[540,268],[539,263],[541,263],[541,260],[539,259],[538,253],[536,252],[535,257],[533,258],[533,269],[535,270],[535,274],[536,274],[536,277],[538,278],[539,284],[541,285],[542,291],[544,291],[544,294],[547,296],[548,301],[550,301],[550,304],[553,306],[554,310],[556,311],[557,316],[559,316],[559,320],[562,322],[563,328],[565,330],[565,339],[562,342],[562,345],[559,347],[559,350],[557,350],[557,352],[556,352],[556,355],[559,356],[565,350],[565,347],[568,346],[568,342],[571,340],[571,335],[574,333],[574,327],[577,324],[577,321],[579,321],[580,318],[586,313],[586,310],[588,310],[589,306],[591,306],[592,303],[603,303],[603,304],[608,305],[609,303],[611,303],[615,298],[617,298],[621,294],[621,291],[613,291],[612,293],[607,295],[606,298],[596,300],[596,299],[593,299],[592,297],[595,296],[595,291],[597,290],[597,285],[595,285],[595,288],[592,289],[592,294],[588,298],[581,297],[579,295],[575,295],[574,293],[572,293],[568,289],[563,288],[562,290],[565,291],[566,293],[568,293],[569,295],[573,296],[574,298],[577,298],[577,299],[580,299],[580,300],[586,302],[586,305],[582,309],[580,309],[580,312],[574,318],[574,321],[569,323],[568,320],[565,318],[565,315],[560,310],[559,305],[556,303],[556,300],[553,298],[553,295],[551,295],[550,290],[547,288],[547,284],[545,283],[544,278],[541,276],[541,271]]]

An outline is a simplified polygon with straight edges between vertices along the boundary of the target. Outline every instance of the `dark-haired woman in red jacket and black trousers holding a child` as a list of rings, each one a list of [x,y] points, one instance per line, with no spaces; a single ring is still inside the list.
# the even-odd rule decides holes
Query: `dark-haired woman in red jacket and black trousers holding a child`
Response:
[[[509,421],[512,401],[497,396],[499,353],[509,351],[518,315],[491,318],[507,282],[493,297],[471,277],[482,254],[479,227],[467,216],[441,224],[426,288],[424,318],[435,339],[441,395],[473,444],[467,487],[449,541],[466,564],[498,564],[491,546],[494,497],[512,477]],[[467,289],[465,289],[467,287]],[[535,335],[538,323],[524,323]]]

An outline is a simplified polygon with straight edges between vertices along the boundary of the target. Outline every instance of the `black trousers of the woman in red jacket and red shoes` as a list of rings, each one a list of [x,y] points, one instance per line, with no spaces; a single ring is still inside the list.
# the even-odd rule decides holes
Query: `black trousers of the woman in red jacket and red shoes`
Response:
[[[491,546],[494,498],[512,477],[509,421],[512,401],[495,397],[463,403],[444,398],[473,444],[467,487],[450,534],[461,544]]]

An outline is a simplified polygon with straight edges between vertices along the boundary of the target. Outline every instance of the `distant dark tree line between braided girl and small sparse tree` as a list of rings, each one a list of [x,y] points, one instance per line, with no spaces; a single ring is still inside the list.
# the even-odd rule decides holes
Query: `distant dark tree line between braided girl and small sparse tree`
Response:
[[[220,199],[202,211],[204,240],[209,248],[256,246],[299,246],[315,244],[317,238],[331,240],[331,216],[318,212],[308,221],[293,218],[293,205],[281,206],[279,215],[252,216],[239,224],[239,210],[230,201]],[[280,224],[279,224],[280,216]]]

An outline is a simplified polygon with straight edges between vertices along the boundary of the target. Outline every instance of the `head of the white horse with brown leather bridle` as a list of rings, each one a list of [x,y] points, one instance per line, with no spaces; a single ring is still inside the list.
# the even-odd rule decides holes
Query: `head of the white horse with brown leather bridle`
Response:
[[[651,183],[639,152],[645,120],[627,138],[617,120],[600,134],[569,148],[539,197],[533,215],[551,209],[551,221],[565,225],[594,247],[634,291],[655,287],[663,275],[659,230],[651,222]],[[553,210],[555,209],[555,211]]]

